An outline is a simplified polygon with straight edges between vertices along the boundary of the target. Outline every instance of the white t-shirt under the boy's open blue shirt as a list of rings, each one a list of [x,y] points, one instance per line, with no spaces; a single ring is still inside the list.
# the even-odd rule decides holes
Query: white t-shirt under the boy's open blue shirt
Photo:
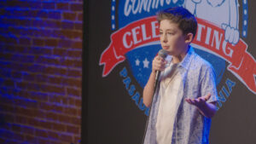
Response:
[[[170,64],[161,72],[160,105],[156,122],[156,140],[158,144],[171,144],[173,124],[177,114],[177,92],[182,78],[177,72],[177,64]]]

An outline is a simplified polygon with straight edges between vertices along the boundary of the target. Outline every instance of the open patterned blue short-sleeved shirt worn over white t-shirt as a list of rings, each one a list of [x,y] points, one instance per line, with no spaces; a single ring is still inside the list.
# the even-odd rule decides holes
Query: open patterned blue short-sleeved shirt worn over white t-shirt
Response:
[[[204,117],[195,106],[190,105],[184,99],[195,99],[211,93],[212,96],[207,102],[218,101],[215,72],[211,64],[195,54],[191,46],[189,46],[187,55],[178,64],[177,71],[182,76],[182,84],[177,96],[181,96],[182,99],[179,99],[180,104],[176,107],[177,115],[173,125],[172,144],[208,144],[211,118]],[[157,144],[155,124],[159,104],[158,88],[150,107],[151,113],[144,144]]]

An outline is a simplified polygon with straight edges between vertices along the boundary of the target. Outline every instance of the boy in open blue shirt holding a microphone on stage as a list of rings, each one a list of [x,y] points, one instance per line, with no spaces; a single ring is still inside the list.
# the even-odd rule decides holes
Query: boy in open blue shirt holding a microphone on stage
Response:
[[[154,58],[143,90],[143,102],[151,106],[144,144],[208,144],[218,95],[212,66],[189,45],[197,21],[182,7],[161,11],[157,20],[168,56]],[[161,73],[154,94],[156,71]]]

